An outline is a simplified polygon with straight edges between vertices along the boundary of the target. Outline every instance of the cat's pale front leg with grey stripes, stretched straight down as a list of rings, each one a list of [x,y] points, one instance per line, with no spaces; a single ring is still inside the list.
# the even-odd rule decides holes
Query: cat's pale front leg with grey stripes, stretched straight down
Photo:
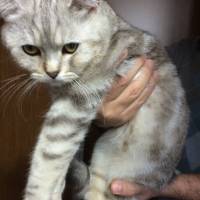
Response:
[[[70,100],[60,99],[52,105],[33,153],[25,200],[60,199],[69,164],[92,118],[92,113]]]

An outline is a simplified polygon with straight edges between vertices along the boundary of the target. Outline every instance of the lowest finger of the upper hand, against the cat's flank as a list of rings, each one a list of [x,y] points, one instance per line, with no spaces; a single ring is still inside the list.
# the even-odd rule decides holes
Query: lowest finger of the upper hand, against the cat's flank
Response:
[[[125,116],[125,120],[129,121],[132,119],[141,106],[149,99],[156,87],[158,79],[158,74],[155,72],[150,79],[148,86],[144,89],[141,95],[122,113],[122,116]]]

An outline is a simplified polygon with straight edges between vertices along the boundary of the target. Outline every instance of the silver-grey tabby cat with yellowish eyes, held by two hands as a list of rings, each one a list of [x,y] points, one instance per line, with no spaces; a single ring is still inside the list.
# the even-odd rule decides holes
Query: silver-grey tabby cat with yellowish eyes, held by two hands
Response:
[[[109,190],[113,179],[164,187],[180,159],[188,109],[176,68],[154,36],[128,25],[104,0],[0,0],[0,14],[5,46],[52,94],[24,200],[62,199],[70,163],[103,97],[141,55],[155,61],[159,82],[134,119],[97,141],[81,198],[117,199]]]

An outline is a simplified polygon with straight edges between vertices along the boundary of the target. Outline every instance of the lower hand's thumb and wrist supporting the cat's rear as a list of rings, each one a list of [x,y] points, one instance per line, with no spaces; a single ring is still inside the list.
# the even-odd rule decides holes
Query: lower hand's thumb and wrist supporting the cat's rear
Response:
[[[181,200],[200,199],[200,175],[183,174],[177,176],[166,188],[160,192],[133,184],[116,180],[111,184],[113,194],[125,197],[136,197],[138,200],[148,200],[152,197],[169,197]]]

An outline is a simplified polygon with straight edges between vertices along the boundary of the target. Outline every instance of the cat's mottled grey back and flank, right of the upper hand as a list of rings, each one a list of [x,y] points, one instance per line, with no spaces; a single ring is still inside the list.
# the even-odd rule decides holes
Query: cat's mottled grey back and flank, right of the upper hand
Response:
[[[185,94],[176,67],[160,43],[145,31],[126,24],[123,28],[139,38],[140,52],[155,60],[159,81],[134,119],[99,139],[93,163],[110,180],[126,178],[158,189],[171,179],[181,156],[188,124]],[[134,53],[135,47],[129,49]]]

